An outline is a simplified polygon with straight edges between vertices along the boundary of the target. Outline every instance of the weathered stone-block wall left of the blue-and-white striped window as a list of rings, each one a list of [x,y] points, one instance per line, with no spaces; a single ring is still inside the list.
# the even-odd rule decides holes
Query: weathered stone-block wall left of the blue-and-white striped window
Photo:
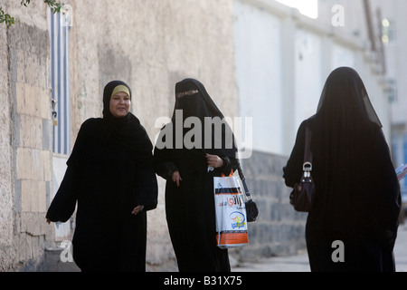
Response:
[[[12,5],[0,5],[9,8],[9,13],[15,11]],[[33,11],[38,12],[35,21],[21,14],[20,23],[1,29],[1,43],[6,46],[0,48],[0,83],[5,92],[1,93],[5,108],[1,170],[5,174],[0,269],[8,271],[41,269],[44,248],[52,244],[52,227],[44,218],[52,180],[49,36],[43,29],[45,6],[33,5]]]

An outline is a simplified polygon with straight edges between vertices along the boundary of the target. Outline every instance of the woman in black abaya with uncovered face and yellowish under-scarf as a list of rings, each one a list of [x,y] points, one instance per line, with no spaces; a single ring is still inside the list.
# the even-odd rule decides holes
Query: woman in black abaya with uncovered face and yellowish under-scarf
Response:
[[[73,258],[82,271],[145,271],[147,210],[156,208],[153,145],[129,112],[125,82],[109,82],[103,118],[85,121],[46,218],[68,220],[78,201]]]

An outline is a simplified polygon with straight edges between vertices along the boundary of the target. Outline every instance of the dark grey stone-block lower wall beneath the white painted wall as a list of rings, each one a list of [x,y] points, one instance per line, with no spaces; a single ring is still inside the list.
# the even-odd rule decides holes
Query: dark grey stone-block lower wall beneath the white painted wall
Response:
[[[289,204],[290,189],[282,178],[287,158],[253,151],[251,158],[241,163],[260,213],[258,220],[248,224],[250,244],[233,249],[232,256],[250,261],[304,250],[307,214],[296,212]]]

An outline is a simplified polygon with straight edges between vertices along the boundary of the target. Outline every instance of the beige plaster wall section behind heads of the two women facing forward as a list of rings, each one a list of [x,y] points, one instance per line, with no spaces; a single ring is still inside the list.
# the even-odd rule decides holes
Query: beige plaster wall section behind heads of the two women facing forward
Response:
[[[103,86],[113,78],[131,85],[133,111],[151,134],[155,119],[172,113],[175,82],[184,77],[204,82],[225,114],[236,113],[232,1],[91,3],[70,3],[77,127],[100,115]]]

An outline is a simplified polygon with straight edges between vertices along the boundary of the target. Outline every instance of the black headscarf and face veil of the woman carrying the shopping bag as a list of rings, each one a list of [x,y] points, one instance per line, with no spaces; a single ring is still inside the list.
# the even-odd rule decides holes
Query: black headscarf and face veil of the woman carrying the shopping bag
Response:
[[[175,110],[183,111],[183,124],[188,117],[197,117],[202,124],[202,149],[205,153],[227,156],[237,158],[237,147],[232,133],[232,129],[224,120],[222,111],[218,109],[212,98],[209,96],[204,88],[204,84],[194,79],[185,79],[175,84],[175,108],[172,117],[174,130],[176,126]],[[214,129],[212,126],[212,144],[208,146],[208,140],[205,146],[204,131],[205,131],[205,118],[210,117],[211,120],[222,121],[222,132]],[[219,123],[218,123],[219,124]],[[208,126],[208,125],[206,125]],[[208,129],[206,127],[206,129]],[[191,129],[192,130],[192,129]],[[189,131],[188,128],[184,129],[183,136]],[[221,141],[220,141],[221,140]],[[232,141],[231,141],[232,140]],[[220,141],[220,142],[219,142]],[[219,146],[219,143],[222,145]]]

